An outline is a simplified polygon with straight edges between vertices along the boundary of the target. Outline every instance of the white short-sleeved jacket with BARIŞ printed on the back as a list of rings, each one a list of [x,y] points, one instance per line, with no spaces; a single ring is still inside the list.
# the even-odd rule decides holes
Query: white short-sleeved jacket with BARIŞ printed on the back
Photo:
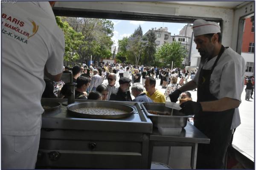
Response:
[[[2,134],[40,132],[44,66],[63,71],[64,34],[49,2],[2,4]],[[4,17],[3,17],[4,16]]]

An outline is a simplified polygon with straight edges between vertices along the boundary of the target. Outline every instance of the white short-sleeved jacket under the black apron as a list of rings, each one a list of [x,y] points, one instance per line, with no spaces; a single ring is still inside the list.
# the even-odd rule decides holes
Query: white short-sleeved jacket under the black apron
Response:
[[[210,70],[216,59],[217,56],[205,62],[204,69]],[[201,68],[202,65],[200,64],[192,80],[196,84],[198,84]],[[210,93],[217,99],[229,97],[241,102],[241,94],[244,89],[244,72],[244,58],[231,48],[225,49],[212,72],[209,88]],[[240,124],[239,109],[235,108],[231,129],[238,127]]]

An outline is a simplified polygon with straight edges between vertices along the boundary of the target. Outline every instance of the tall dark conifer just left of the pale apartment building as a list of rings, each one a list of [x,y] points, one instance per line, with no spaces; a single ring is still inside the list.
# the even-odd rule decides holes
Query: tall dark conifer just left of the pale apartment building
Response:
[[[157,36],[154,31],[150,30],[148,31],[148,34],[146,34],[143,37],[143,40],[146,42],[144,53],[143,53],[143,64],[152,65],[155,60],[156,47],[157,47],[157,44],[155,43],[155,41],[157,40]]]

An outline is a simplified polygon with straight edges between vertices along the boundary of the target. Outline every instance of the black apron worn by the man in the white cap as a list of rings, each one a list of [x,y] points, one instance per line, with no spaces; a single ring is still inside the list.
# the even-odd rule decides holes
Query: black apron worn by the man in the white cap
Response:
[[[224,52],[221,51],[211,70],[200,70],[198,79],[197,102],[218,100],[209,91],[210,77],[218,60]],[[209,139],[210,144],[198,144],[196,169],[224,169],[225,155],[230,144],[232,131],[230,130],[235,109],[221,112],[201,112],[195,114],[194,125]]]

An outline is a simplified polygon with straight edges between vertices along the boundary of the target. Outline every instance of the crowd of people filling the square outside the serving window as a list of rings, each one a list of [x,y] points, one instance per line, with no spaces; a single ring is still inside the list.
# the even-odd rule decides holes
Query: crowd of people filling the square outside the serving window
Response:
[[[65,66],[63,73],[73,74],[73,82],[77,83],[76,99],[163,103],[170,101],[169,94],[184,85],[189,75],[195,74],[194,71],[189,74],[189,71],[180,68],[169,69],[120,63],[101,63],[98,66],[91,64],[89,67],[83,64],[74,65],[73,68]],[[177,82],[178,77],[180,77],[179,82]],[[160,79],[160,85],[166,88],[164,94],[155,88],[156,79]],[[46,80],[46,84],[47,82],[49,80]],[[62,81],[50,82],[48,86],[43,97],[67,98],[69,95],[69,89]]]

